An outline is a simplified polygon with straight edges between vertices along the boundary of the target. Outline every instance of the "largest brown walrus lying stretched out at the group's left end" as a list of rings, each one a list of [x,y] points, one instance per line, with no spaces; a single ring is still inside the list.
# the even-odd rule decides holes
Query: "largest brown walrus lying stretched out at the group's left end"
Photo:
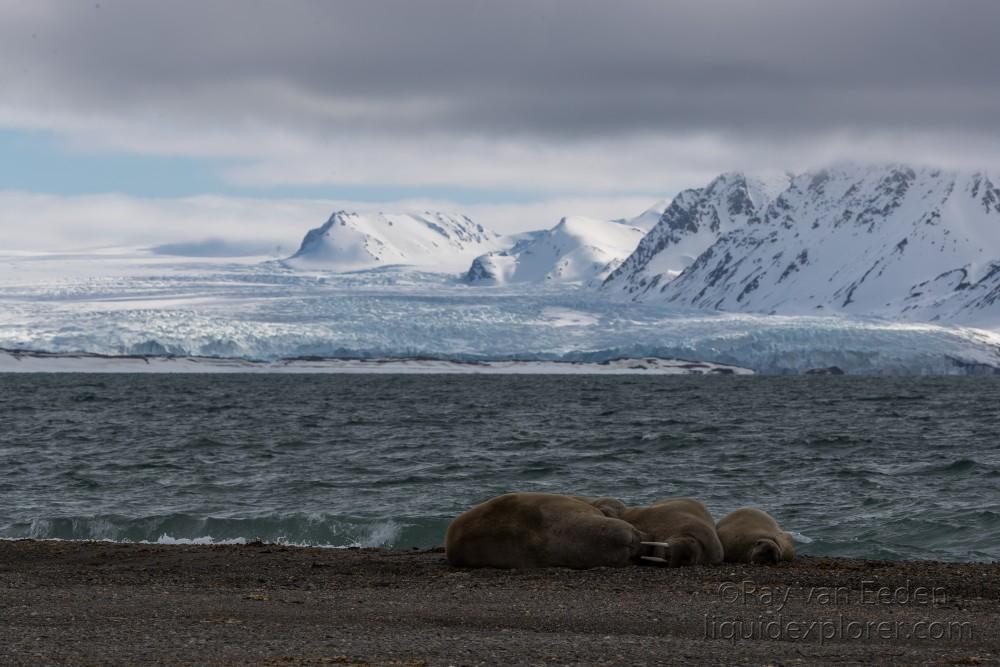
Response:
[[[452,565],[462,567],[628,565],[638,559],[644,536],[605,514],[618,511],[616,503],[621,505],[609,498],[508,493],[452,521],[445,552]]]

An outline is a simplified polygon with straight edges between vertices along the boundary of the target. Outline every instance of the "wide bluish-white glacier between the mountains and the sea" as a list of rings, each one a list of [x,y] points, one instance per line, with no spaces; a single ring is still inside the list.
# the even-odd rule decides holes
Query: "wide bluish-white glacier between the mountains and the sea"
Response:
[[[319,275],[278,262],[113,259],[63,256],[45,278],[32,269],[40,260],[0,258],[0,347],[265,360],[659,356],[766,373],[1000,367],[1000,336],[946,325],[699,312],[581,286],[471,287],[398,268]]]

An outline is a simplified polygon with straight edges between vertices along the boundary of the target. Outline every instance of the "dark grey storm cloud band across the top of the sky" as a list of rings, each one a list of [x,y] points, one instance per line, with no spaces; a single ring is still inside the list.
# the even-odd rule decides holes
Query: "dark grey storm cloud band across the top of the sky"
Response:
[[[552,142],[985,134],[1000,117],[995,0],[0,0],[0,12],[0,105],[40,111]]]

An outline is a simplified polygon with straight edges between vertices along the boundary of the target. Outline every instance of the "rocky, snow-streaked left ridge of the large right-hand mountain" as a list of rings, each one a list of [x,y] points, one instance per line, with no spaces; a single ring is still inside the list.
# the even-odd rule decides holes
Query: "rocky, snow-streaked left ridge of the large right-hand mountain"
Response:
[[[785,186],[782,178],[765,181],[729,173],[704,188],[681,192],[635,252],[608,276],[606,289],[635,297],[662,288],[721,236],[759,223]]]

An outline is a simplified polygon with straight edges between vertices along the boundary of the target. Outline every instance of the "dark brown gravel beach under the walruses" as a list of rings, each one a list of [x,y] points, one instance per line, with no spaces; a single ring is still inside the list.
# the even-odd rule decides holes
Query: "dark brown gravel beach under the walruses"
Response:
[[[6,541],[0,664],[1000,664],[1000,564],[459,570],[442,550]]]

